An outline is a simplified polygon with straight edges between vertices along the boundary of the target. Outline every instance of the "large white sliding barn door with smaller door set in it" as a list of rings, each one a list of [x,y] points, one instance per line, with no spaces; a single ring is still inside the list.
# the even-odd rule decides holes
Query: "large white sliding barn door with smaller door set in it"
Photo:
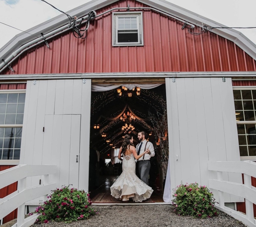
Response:
[[[86,80],[86,84],[81,79],[37,81],[35,85],[27,81],[20,164],[57,165],[61,169],[52,180],[58,187],[72,183],[88,190],[90,107],[91,80]],[[80,143],[80,132],[87,136],[83,143]],[[80,150],[83,151],[80,161],[85,163],[79,174],[76,157]],[[82,181],[80,185],[78,179]],[[27,185],[38,181],[29,178]],[[29,204],[38,202],[39,199]]]

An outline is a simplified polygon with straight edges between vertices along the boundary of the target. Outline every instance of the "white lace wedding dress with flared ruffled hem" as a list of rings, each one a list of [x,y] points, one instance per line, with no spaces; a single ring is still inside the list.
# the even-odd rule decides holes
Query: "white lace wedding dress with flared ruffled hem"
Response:
[[[136,162],[134,155],[124,156],[122,161],[123,172],[110,187],[111,195],[128,201],[130,197],[134,202],[142,202],[150,198],[153,189],[141,181],[135,174]]]

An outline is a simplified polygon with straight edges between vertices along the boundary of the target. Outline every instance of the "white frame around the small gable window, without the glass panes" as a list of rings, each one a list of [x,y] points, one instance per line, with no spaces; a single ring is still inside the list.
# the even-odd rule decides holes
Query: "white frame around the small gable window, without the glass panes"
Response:
[[[117,18],[136,17],[138,42],[117,42]],[[113,12],[112,13],[112,46],[144,46],[142,12]]]

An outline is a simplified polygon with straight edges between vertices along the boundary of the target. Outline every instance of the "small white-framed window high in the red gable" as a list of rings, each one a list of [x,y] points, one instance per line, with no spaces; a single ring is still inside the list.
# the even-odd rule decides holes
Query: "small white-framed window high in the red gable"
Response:
[[[142,12],[113,12],[113,46],[143,46]]]

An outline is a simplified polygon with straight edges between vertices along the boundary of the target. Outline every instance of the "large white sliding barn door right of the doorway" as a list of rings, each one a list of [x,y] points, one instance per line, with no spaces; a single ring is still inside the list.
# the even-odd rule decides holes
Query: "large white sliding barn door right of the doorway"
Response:
[[[207,171],[209,160],[240,161],[231,79],[166,79],[166,89],[171,188],[181,181],[209,186],[209,178],[217,178]],[[225,175],[231,177],[241,182],[240,175]],[[241,201],[229,195],[225,200]]]

